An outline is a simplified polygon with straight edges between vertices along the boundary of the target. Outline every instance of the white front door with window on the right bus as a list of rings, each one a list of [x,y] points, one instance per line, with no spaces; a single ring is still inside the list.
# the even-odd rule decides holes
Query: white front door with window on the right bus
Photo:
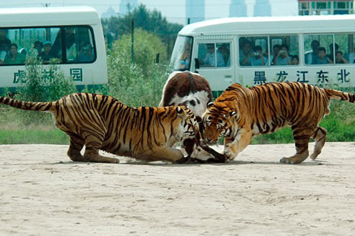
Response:
[[[196,71],[206,78],[212,91],[223,91],[235,82],[233,41],[197,41]],[[197,66],[198,67],[198,66]]]

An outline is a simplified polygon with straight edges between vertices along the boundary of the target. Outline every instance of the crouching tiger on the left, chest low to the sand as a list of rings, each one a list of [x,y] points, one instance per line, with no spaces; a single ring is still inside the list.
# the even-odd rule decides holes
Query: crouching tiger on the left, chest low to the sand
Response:
[[[90,93],[70,94],[54,102],[0,97],[0,103],[52,113],[55,126],[70,137],[67,155],[75,162],[119,163],[119,159],[100,155],[99,150],[148,162],[214,159],[199,145],[199,126],[186,106],[134,108],[111,96]],[[176,142],[182,143],[188,158],[172,148]]]

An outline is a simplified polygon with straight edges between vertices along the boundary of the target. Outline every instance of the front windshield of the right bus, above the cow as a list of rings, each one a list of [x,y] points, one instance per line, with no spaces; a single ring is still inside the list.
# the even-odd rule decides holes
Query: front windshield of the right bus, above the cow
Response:
[[[192,37],[177,36],[171,54],[173,70],[189,70],[191,61]]]

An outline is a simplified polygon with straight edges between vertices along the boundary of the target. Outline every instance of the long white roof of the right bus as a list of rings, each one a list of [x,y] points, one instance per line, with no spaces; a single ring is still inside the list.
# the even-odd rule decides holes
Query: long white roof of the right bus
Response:
[[[186,25],[180,35],[354,32],[355,15],[229,17]]]

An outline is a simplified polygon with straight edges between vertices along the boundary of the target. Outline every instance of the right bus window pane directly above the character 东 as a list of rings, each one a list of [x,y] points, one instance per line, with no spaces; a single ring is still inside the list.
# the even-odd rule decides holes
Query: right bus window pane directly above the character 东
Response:
[[[333,64],[334,51],[337,44],[333,46],[333,34],[312,34],[304,35],[304,61],[307,65]]]

